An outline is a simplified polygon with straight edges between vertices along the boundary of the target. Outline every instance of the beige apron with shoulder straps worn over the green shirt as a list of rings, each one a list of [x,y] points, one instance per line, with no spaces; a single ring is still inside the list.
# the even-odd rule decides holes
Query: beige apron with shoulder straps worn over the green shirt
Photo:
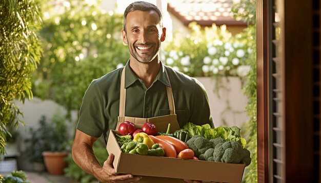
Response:
[[[165,69],[165,74],[168,74]],[[174,105],[174,98],[173,98],[173,92],[172,88],[169,86],[166,86],[167,90],[167,98],[168,98],[168,104],[170,109],[170,115],[166,116],[160,116],[160,117],[154,117],[154,118],[134,118],[134,117],[126,117],[125,116],[125,105],[126,105],[126,88],[125,88],[125,68],[122,72],[122,78],[121,78],[121,93],[120,93],[120,99],[119,99],[119,116],[118,116],[118,122],[116,129],[118,129],[119,124],[130,121],[135,124],[136,128],[141,129],[145,122],[151,122],[156,125],[157,131],[163,131],[165,132],[167,130],[168,123],[171,124],[170,132],[173,133],[175,130],[178,130],[180,127],[178,125],[176,114],[175,114],[175,105]],[[157,165],[152,165],[157,166]],[[134,167],[133,167],[134,168]],[[185,182],[182,179],[176,179],[176,178],[164,178],[164,177],[152,177],[152,176],[143,176],[143,179],[139,182],[149,182],[149,183],[157,183],[157,182]]]

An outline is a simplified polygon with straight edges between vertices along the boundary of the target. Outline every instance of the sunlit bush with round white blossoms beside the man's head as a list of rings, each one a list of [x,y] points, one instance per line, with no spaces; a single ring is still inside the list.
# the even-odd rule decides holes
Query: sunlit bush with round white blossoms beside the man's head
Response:
[[[247,39],[233,36],[226,26],[201,29],[196,22],[189,24],[192,32],[182,38],[176,32],[173,40],[164,43],[160,58],[169,66],[189,76],[243,77],[248,53]]]

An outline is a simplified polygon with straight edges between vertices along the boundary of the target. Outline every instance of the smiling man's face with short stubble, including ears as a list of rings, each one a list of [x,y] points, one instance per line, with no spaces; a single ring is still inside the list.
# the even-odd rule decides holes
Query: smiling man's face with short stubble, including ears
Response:
[[[159,26],[158,14],[151,11],[133,11],[127,14],[126,33],[122,30],[123,41],[128,44],[131,59],[148,63],[156,58],[160,42],[165,40],[166,28]]]

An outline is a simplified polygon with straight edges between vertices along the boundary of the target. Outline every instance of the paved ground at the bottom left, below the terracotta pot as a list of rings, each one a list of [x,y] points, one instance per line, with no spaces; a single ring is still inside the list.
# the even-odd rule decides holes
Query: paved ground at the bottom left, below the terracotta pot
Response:
[[[7,175],[9,173],[0,173]],[[77,183],[64,175],[50,175],[48,172],[26,172],[28,180],[32,183]]]

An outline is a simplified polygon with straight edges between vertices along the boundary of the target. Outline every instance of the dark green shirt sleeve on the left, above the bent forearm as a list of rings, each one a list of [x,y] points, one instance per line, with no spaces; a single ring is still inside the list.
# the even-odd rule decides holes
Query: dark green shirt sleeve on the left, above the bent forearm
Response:
[[[104,108],[104,99],[96,82],[92,81],[83,98],[77,129],[99,138],[106,124]]]

